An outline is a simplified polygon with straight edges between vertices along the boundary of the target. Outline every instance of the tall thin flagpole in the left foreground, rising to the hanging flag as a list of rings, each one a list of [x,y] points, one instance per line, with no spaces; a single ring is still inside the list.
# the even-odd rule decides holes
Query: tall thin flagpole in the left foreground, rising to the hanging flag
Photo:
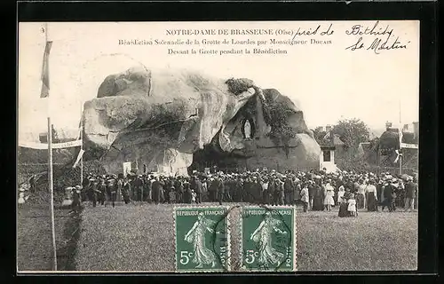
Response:
[[[48,24],[44,24],[44,44],[48,43]],[[49,58],[48,62],[49,64]],[[48,90],[49,91],[49,90]],[[51,193],[50,211],[51,211],[51,233],[52,233],[52,269],[57,271],[57,247],[55,241],[55,220],[54,220],[54,187],[52,175],[52,123],[51,123],[51,107],[48,95],[48,188]]]

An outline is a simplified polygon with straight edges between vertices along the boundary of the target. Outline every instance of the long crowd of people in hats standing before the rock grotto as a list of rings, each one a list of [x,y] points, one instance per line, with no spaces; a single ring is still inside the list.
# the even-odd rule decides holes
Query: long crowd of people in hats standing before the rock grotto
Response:
[[[162,174],[98,176],[89,174],[83,185],[73,188],[78,200],[92,206],[115,206],[115,201],[154,203],[249,202],[268,205],[297,205],[307,210],[339,207],[340,217],[357,216],[360,210],[397,208],[414,210],[417,204],[416,177],[389,173],[325,171],[285,173],[276,170],[202,173],[190,177]],[[77,204],[77,203],[76,203]]]

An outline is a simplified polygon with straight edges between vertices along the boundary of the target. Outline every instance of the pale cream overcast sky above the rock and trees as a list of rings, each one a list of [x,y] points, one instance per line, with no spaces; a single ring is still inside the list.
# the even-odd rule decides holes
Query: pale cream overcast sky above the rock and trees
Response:
[[[373,26],[372,22],[359,24]],[[328,27],[329,23],[324,22]],[[345,50],[356,36],[345,29],[356,23],[334,22],[331,44],[280,46],[283,55],[168,55],[164,45],[119,45],[119,39],[216,39],[218,36],[166,36],[168,28],[312,28],[316,22],[201,22],[201,23],[50,23],[51,114],[57,128],[75,129],[84,100],[93,99],[99,83],[113,73],[143,64],[146,67],[182,67],[222,78],[247,77],[262,88],[274,88],[302,108],[305,122],[314,128],[357,117],[370,128],[386,121],[418,120],[419,25],[415,21],[389,22],[393,34],[409,41],[407,49]],[[381,22],[385,27],[387,22]],[[19,128],[20,132],[46,129],[45,99],[40,99],[44,51],[42,23],[20,23]],[[323,26],[322,26],[323,27]],[[219,37],[220,38],[220,37]],[[239,36],[265,39],[270,36]],[[288,36],[275,38],[288,39]],[[302,38],[302,37],[301,37]],[[316,37],[319,38],[319,37]],[[372,40],[367,42],[371,43]],[[257,47],[257,46],[254,46]],[[210,49],[210,45],[194,46]],[[220,46],[217,47],[220,49]],[[226,45],[225,49],[243,49]],[[266,48],[266,46],[262,46]],[[109,54],[115,54],[110,56]],[[116,55],[120,54],[120,55]]]

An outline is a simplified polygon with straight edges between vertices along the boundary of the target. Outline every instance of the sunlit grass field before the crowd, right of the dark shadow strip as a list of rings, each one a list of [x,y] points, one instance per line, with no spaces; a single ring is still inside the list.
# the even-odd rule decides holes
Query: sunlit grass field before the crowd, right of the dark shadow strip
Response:
[[[205,205],[209,205],[208,203]],[[415,270],[417,213],[297,212],[298,271]],[[239,239],[232,228],[232,258]],[[75,251],[79,271],[174,271],[171,205],[118,205],[82,212]],[[236,259],[233,266],[238,265]]]

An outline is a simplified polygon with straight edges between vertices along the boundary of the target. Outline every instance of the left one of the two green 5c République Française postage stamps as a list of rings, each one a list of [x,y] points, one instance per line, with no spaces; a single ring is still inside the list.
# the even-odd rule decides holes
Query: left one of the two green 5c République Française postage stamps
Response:
[[[230,270],[227,207],[174,209],[176,272]]]

